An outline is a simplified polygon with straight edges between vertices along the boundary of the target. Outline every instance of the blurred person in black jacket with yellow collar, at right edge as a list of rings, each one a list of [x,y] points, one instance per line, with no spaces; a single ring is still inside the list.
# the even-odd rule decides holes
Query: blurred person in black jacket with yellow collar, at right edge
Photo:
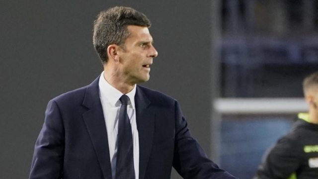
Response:
[[[318,179],[318,72],[303,81],[308,113],[266,152],[253,179]]]

